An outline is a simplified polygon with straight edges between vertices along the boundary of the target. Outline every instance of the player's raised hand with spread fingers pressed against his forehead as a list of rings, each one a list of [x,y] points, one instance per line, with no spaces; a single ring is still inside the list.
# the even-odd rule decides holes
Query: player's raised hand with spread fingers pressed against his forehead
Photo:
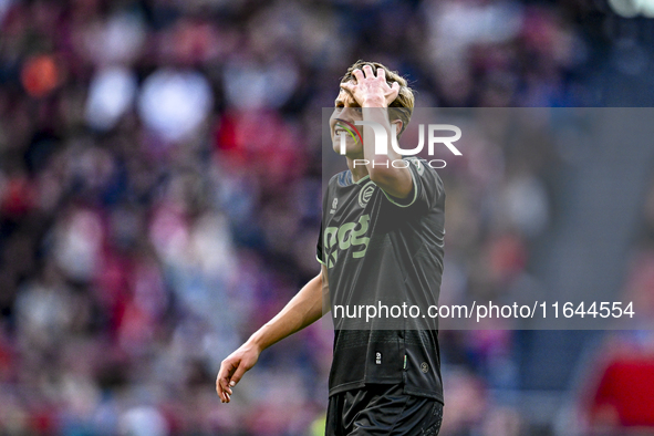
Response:
[[[361,107],[388,107],[399,93],[399,83],[386,82],[386,71],[377,69],[377,75],[370,65],[364,65],[363,71],[354,70],[354,81],[341,83],[341,87],[347,91]]]

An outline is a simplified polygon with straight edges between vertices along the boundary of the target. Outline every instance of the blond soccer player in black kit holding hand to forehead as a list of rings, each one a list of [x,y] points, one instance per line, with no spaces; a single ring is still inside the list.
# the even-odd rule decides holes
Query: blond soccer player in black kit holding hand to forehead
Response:
[[[330,128],[336,153],[345,136],[350,169],[332,177],[324,194],[321,272],[222,361],[216,391],[228,403],[262,350],[322,316],[329,293],[334,355],[326,435],[437,435],[443,417],[437,330],[428,316],[406,314],[406,305],[417,304],[425,314],[438,301],[443,183],[424,159],[398,155],[391,141],[386,153],[375,154],[370,124],[346,134],[357,121],[401,134],[414,107],[406,80],[380,63],[359,61],[340,87]],[[343,308],[361,303],[375,305],[378,318],[347,320]],[[388,314],[388,307],[403,304],[404,313]]]

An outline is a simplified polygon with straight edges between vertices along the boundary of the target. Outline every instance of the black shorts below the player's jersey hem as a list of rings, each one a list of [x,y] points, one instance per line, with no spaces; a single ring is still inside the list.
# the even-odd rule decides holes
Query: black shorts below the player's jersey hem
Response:
[[[330,397],[325,436],[436,436],[443,404],[401,385],[366,385]]]

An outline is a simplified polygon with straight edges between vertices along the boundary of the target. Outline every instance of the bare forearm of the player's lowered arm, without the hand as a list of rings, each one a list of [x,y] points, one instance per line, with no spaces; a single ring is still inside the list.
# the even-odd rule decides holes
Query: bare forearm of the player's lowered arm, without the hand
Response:
[[[272,320],[253,333],[248,342],[263,351],[312,324],[322,316],[322,293],[323,280],[318,274]]]

